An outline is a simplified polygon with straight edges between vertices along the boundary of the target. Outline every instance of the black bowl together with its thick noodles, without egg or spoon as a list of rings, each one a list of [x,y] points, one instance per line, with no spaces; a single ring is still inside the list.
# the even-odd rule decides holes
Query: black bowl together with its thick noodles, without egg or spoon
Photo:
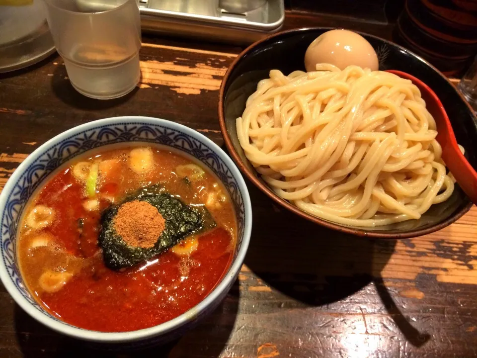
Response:
[[[477,168],[474,111],[432,65],[372,35],[361,34],[379,68],[323,63],[307,72],[307,49],[329,30],[272,35],[229,67],[219,120],[233,160],[276,203],[330,229],[392,239],[450,225],[473,204],[441,158],[419,89],[386,71],[434,90]]]

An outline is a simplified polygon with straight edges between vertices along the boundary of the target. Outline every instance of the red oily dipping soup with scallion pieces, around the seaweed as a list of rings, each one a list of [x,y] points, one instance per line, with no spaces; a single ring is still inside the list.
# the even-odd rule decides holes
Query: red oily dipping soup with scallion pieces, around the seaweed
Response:
[[[98,246],[102,212],[155,183],[191,207],[204,205],[216,227],[133,267],[108,269]],[[125,332],[202,301],[231,264],[236,232],[226,189],[200,162],[161,146],[111,146],[68,163],[35,193],[17,255],[28,289],[52,315],[88,330]]]

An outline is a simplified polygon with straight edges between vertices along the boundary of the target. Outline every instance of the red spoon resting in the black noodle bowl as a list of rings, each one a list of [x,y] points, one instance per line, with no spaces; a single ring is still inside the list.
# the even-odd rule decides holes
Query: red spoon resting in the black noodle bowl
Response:
[[[411,80],[421,91],[421,96],[426,101],[426,108],[436,121],[436,140],[442,147],[442,159],[462,190],[477,205],[477,173],[460,151],[451,121],[436,93],[424,82],[408,73],[396,70],[388,70],[387,72]]]

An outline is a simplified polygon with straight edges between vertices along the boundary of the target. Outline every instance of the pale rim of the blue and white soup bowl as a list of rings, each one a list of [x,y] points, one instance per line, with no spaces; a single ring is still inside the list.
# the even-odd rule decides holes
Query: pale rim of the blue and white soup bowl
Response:
[[[57,321],[54,319],[50,314],[46,315],[35,308],[22,294],[18,291],[15,287],[13,282],[10,279],[10,275],[5,267],[3,260],[0,264],[0,279],[5,286],[7,292],[10,296],[14,299],[14,301],[25,311],[27,312],[32,318],[37,320],[38,322],[44,324],[48,328],[51,328],[54,331],[59,333],[65,334],[70,337],[74,337],[77,339],[91,341],[91,342],[98,342],[98,343],[129,343],[135,341],[142,341],[148,338],[158,337],[160,335],[164,335],[180,327],[186,325],[189,321],[193,321],[195,317],[199,316],[203,313],[207,307],[213,305],[217,299],[220,298],[221,294],[224,291],[227,291],[227,287],[233,284],[233,281],[236,279],[240,268],[242,266],[243,260],[245,258],[245,254],[248,248],[248,244],[250,242],[250,235],[251,235],[251,227],[252,227],[252,210],[251,210],[251,202],[250,196],[247,190],[247,186],[245,184],[245,180],[240,174],[239,169],[235,165],[235,163],[231,160],[231,158],[221,149],[217,144],[215,144],[211,139],[207,138],[205,135],[197,132],[196,130],[189,128],[185,125],[180,123],[176,123],[173,121],[169,121],[166,119],[161,118],[154,118],[154,117],[144,117],[144,116],[118,116],[118,117],[111,117],[111,118],[104,118],[98,119],[91,122],[83,123],[78,126],[75,126],[71,129],[68,129],[55,137],[51,138],[40,147],[38,147],[35,151],[33,151],[14,171],[11,175],[10,179],[5,184],[3,190],[0,194],[0,213],[5,210],[7,199],[14,188],[15,183],[20,178],[20,176],[24,173],[24,171],[28,168],[28,166],[36,161],[40,154],[42,154],[45,150],[47,150],[50,146],[55,145],[56,143],[62,141],[65,138],[68,138],[72,135],[75,135],[83,130],[88,130],[89,128],[98,126],[98,125],[121,125],[123,123],[131,123],[131,122],[143,122],[143,123],[150,123],[153,125],[165,125],[171,127],[173,129],[177,129],[182,131],[183,133],[194,137],[205,144],[207,144],[210,149],[217,154],[228,166],[230,169],[233,177],[237,180],[239,189],[242,194],[243,198],[243,205],[244,205],[244,225],[243,225],[243,238],[242,244],[239,248],[237,256],[235,260],[229,267],[228,272],[222,277],[221,281],[215,286],[215,288],[197,305],[193,306],[191,309],[187,310],[186,312],[182,313],[180,316],[177,316],[170,321],[166,321],[161,323],[157,326],[145,328],[136,331],[129,331],[129,332],[99,332],[99,331],[92,331],[87,330],[79,327],[74,327],[73,325],[67,324],[65,322]],[[16,256],[16,252],[15,252]],[[34,300],[34,299],[33,299]]]

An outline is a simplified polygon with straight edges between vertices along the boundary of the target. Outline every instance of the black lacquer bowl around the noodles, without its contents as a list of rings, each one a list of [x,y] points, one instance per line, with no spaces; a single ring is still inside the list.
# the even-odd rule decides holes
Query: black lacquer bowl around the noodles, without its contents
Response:
[[[292,71],[305,71],[305,51],[312,41],[331,28],[305,28],[281,32],[258,41],[243,51],[227,71],[220,88],[219,120],[227,148],[239,169],[265,194],[294,213],[333,230],[377,238],[408,238],[440,230],[464,215],[472,207],[469,198],[459,185],[452,196],[431,208],[418,220],[379,226],[358,228],[336,224],[307,214],[276,195],[260,179],[245,158],[237,138],[236,119],[241,116],[245,101],[252,94],[258,81],[267,78],[272,69],[285,75]],[[466,157],[477,169],[477,118],[461,94],[451,82],[432,65],[390,41],[363,35],[374,47],[379,58],[380,70],[407,72],[425,82],[433,89],[444,104],[452,122],[459,144],[466,149]]]

